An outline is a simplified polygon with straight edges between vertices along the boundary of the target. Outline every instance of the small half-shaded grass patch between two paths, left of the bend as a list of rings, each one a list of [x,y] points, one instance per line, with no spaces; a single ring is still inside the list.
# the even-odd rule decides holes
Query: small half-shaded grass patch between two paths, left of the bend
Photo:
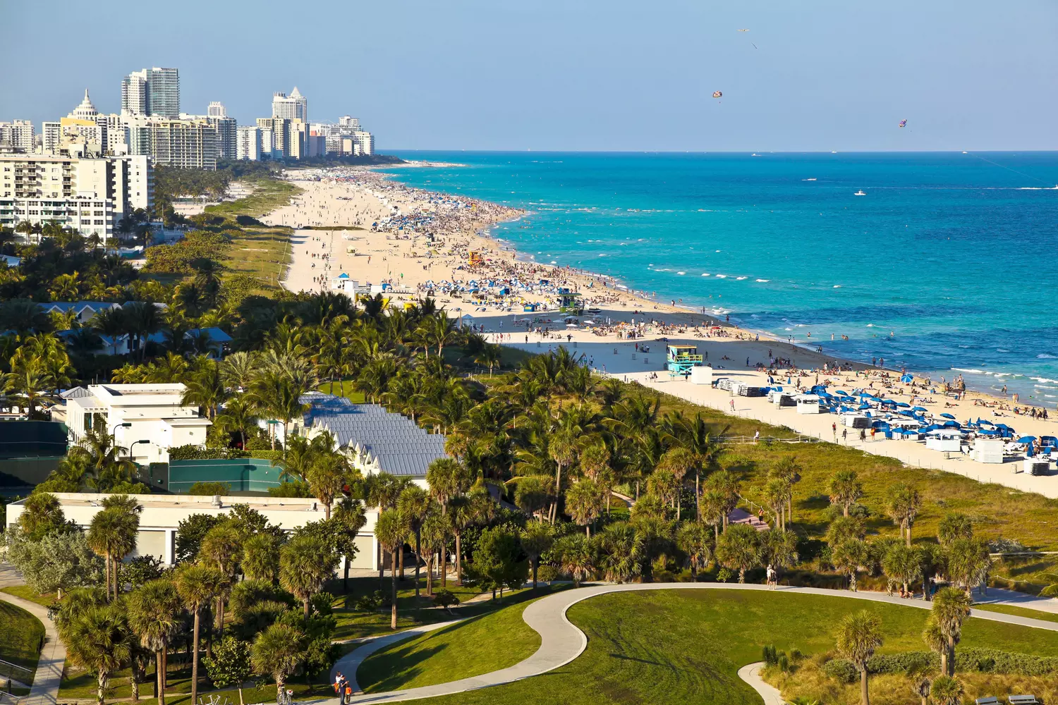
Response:
[[[416,688],[513,666],[540,648],[540,634],[522,619],[525,605],[399,642],[370,655],[357,671],[365,692]],[[496,636],[501,636],[497,648]]]

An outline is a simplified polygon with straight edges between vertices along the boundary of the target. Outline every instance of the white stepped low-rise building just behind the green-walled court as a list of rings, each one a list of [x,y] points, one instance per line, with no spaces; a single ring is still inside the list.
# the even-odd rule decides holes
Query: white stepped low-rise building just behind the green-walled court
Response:
[[[105,425],[114,443],[141,465],[167,463],[169,448],[205,443],[213,425],[198,407],[181,403],[184,385],[89,385],[88,394],[66,403],[71,443]]]

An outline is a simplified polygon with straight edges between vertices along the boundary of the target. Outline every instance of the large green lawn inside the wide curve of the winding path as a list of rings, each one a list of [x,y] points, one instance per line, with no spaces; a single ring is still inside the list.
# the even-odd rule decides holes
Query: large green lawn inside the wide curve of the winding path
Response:
[[[868,609],[881,616],[886,643],[879,652],[924,650],[926,610],[843,597],[769,592],[658,591],[595,597],[570,608],[569,619],[588,636],[587,650],[571,664],[504,686],[432,698],[423,705],[668,705],[759,703],[736,675],[761,660],[765,645],[798,648],[807,655],[834,649],[842,616]],[[467,625],[464,628],[470,628]],[[453,632],[458,632],[455,627]],[[480,638],[480,637],[479,637]],[[495,632],[492,646],[506,648]],[[968,619],[962,646],[1058,655],[1054,632]],[[475,644],[476,652],[488,652]],[[455,661],[440,651],[417,665],[425,679]]]

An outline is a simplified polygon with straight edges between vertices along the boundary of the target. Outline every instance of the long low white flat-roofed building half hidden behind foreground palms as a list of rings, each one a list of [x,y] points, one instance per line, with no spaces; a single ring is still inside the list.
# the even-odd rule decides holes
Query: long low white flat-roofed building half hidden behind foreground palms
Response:
[[[102,502],[108,495],[85,493],[56,493],[68,521],[87,527],[92,517],[103,511]],[[143,512],[140,515],[140,531],[135,550],[128,558],[156,556],[166,565],[176,562],[176,536],[180,522],[195,514],[219,515],[231,512],[233,504],[249,504],[260,512],[269,523],[292,532],[310,521],[324,518],[324,507],[314,499],[271,498],[271,497],[191,497],[188,495],[130,495]],[[18,522],[25,508],[24,502],[7,505],[7,526]],[[381,559],[378,541],[375,540],[375,523],[378,509],[367,509],[367,522],[357,536],[357,557],[349,564],[351,569],[376,570]],[[345,562],[339,565],[339,574]]]

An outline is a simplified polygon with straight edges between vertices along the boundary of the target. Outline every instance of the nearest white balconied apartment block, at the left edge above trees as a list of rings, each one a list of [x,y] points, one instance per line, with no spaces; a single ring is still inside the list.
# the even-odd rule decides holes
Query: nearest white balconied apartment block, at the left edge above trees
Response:
[[[55,220],[105,242],[123,218],[152,205],[153,173],[146,156],[0,154],[2,226]]]

